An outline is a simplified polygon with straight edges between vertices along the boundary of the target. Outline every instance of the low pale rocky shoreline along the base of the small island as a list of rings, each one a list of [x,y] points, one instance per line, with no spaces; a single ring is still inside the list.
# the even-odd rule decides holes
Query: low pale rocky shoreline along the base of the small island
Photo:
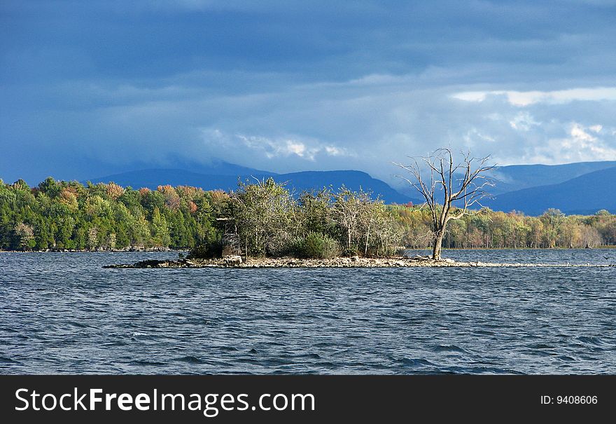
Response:
[[[404,268],[404,267],[614,267],[616,264],[498,264],[491,262],[456,262],[452,259],[434,260],[429,257],[332,259],[248,258],[237,256],[219,259],[179,259],[177,261],[147,260],[135,264],[106,265],[103,268]]]

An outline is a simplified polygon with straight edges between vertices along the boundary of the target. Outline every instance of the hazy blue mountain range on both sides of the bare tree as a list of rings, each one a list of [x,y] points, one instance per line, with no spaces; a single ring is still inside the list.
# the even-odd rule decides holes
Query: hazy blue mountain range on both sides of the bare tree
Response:
[[[365,172],[306,171],[289,174],[254,170],[248,167],[216,160],[208,165],[186,164],[191,169],[146,169],[123,172],[92,179],[93,183],[110,182],[135,189],[156,189],[163,184],[188,185],[204,190],[237,189],[237,180],[273,177],[276,182],[286,182],[290,189],[300,192],[321,189],[324,186],[339,188],[343,184],[352,190],[360,187],[379,195],[386,203],[423,203],[419,193],[409,186],[398,190],[367,175]],[[580,162],[566,165],[510,165],[498,167],[493,172],[496,186],[489,191],[494,199],[484,200],[493,210],[518,210],[526,214],[542,214],[555,207],[568,214],[592,214],[599,209],[616,212],[616,161]]]

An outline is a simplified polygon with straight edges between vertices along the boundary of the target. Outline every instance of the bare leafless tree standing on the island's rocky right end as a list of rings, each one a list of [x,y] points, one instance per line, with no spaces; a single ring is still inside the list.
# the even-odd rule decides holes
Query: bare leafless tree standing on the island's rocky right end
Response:
[[[484,188],[493,186],[485,174],[494,165],[487,165],[490,156],[473,158],[470,153],[462,153],[462,160],[454,165],[451,150],[444,148],[437,149],[430,156],[419,158],[419,161],[417,158],[412,159],[411,165],[395,165],[411,173],[410,179],[400,177],[426,199],[432,215],[432,258],[438,260],[447,223],[452,219],[461,219],[464,215],[479,212],[471,209],[473,206],[482,208],[481,200],[489,196]],[[425,177],[422,177],[422,172],[427,172]],[[442,204],[437,203],[440,194]]]

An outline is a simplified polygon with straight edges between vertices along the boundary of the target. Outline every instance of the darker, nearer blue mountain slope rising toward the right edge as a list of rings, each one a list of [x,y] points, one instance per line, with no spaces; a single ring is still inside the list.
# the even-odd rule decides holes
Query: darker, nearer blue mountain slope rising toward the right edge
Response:
[[[493,210],[518,210],[529,215],[542,214],[550,207],[566,214],[594,214],[607,209],[616,212],[616,166],[589,172],[561,182],[498,194],[486,200]]]

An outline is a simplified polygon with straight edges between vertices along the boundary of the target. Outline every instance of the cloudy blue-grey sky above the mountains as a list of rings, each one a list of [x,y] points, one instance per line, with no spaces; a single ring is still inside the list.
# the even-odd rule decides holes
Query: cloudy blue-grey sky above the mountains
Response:
[[[616,160],[616,0],[0,2],[0,178]]]

